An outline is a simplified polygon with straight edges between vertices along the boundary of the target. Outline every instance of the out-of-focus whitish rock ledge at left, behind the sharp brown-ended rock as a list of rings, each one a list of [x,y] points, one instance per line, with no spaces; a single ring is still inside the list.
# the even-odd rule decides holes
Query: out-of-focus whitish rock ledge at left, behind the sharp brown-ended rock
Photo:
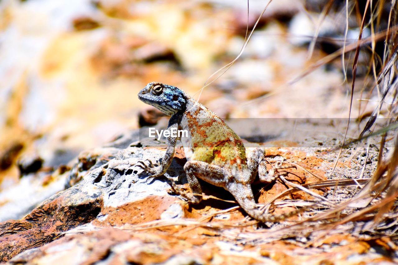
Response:
[[[77,159],[67,166],[60,166],[53,173],[43,170],[24,176],[17,184],[0,193],[0,222],[23,217],[38,203],[75,185],[86,173],[106,164],[121,149],[138,140],[139,131],[128,131],[103,147],[81,152]]]

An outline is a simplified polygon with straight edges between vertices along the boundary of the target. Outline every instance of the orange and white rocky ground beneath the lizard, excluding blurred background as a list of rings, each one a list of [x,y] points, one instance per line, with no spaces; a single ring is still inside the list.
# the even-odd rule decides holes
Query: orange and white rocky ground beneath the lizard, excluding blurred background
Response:
[[[66,183],[67,188],[40,203],[21,219],[6,220],[0,224],[1,261],[12,264],[60,260],[68,264],[256,264],[294,260],[293,256],[297,255],[300,247],[289,246],[289,240],[271,240],[272,243],[266,244],[246,242],[245,238],[250,237],[259,226],[245,218],[246,214],[236,207],[234,198],[223,189],[203,183],[203,202],[191,206],[172,194],[165,179],[148,179],[135,164],[145,159],[155,162],[154,158],[162,156],[165,150],[150,147],[153,145],[151,141],[154,140],[140,139],[139,131],[126,133],[102,148],[82,152],[70,170],[63,174],[53,173],[53,182]],[[282,143],[297,147],[282,147]],[[273,144],[279,147],[267,148],[269,161],[284,158],[308,170],[297,167],[283,169],[280,173],[287,174],[288,181],[303,185],[325,178],[322,168],[329,168],[331,163],[322,159],[320,152],[317,156],[311,156],[304,152],[309,149],[299,148],[297,142],[275,141]],[[251,149],[248,148],[248,152]],[[184,163],[184,154],[177,149],[168,173],[177,183],[184,185],[184,189],[189,189],[183,171]],[[338,166],[345,167],[347,164]],[[36,173],[38,175],[40,173]],[[35,189],[32,190],[37,190],[39,186],[33,186]],[[41,187],[46,185],[41,182]],[[253,188],[259,203],[264,203],[286,191],[287,186],[281,181],[265,187],[256,182]],[[15,189],[18,192],[17,187]],[[56,189],[52,191],[55,193]],[[326,195],[326,189],[312,191]],[[281,199],[298,203],[314,198],[300,191]],[[279,203],[282,203],[281,199]],[[272,214],[293,209],[278,207]],[[283,223],[286,225],[301,218],[293,216]],[[268,233],[284,226],[268,225],[271,225]],[[293,234],[291,236],[294,237]],[[348,256],[362,261],[389,260],[382,254],[372,254],[369,242],[358,241],[349,235],[341,236],[348,240],[346,244],[350,249],[343,256],[333,257],[333,261]],[[326,247],[333,240],[336,239],[326,237],[321,245]],[[342,243],[337,240],[336,244]],[[391,248],[392,244],[390,242],[388,246]],[[302,262],[311,259],[322,262],[337,249],[334,247],[332,252],[319,252],[318,249],[317,254],[310,254],[311,250],[307,249],[308,256],[301,259]]]

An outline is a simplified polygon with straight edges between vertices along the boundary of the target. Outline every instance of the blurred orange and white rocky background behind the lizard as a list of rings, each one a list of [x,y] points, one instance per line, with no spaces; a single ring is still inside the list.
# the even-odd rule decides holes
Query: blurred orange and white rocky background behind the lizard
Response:
[[[199,101],[223,118],[347,118],[361,33],[351,117],[369,116],[393,48],[377,32],[396,11],[367,2],[272,1],[242,56]],[[248,11],[242,0],[1,0],[0,191],[21,172],[67,168],[82,150],[137,129],[149,111],[137,93],[148,82],[198,99],[267,3],[250,0]]]

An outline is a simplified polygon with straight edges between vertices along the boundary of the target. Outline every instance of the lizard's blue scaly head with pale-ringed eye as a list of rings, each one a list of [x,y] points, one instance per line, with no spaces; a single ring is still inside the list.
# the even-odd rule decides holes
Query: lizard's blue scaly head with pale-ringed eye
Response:
[[[149,105],[172,116],[185,107],[186,95],[175,86],[150,82],[139,93],[138,98]]]

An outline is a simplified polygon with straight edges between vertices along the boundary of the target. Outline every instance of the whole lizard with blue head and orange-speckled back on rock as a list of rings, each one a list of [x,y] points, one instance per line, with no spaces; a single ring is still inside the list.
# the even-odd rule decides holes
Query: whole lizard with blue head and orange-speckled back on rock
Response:
[[[251,184],[258,173],[264,183],[271,183],[275,174],[269,174],[266,168],[264,151],[257,147],[250,158],[241,138],[213,111],[195,101],[183,90],[159,82],[150,82],[138,97],[171,116],[168,129],[187,130],[188,136],[179,138],[187,162],[184,171],[192,194],[181,191],[174,181],[168,179],[172,189],[185,197],[188,203],[198,204],[202,200],[202,189],[198,181],[202,179],[210,184],[229,191],[240,207],[252,218],[260,222],[276,222],[297,213],[289,212],[274,216],[259,210],[254,200]],[[174,157],[178,137],[167,137],[166,153],[158,164],[150,160],[137,162],[136,166],[150,177],[166,174]]]

